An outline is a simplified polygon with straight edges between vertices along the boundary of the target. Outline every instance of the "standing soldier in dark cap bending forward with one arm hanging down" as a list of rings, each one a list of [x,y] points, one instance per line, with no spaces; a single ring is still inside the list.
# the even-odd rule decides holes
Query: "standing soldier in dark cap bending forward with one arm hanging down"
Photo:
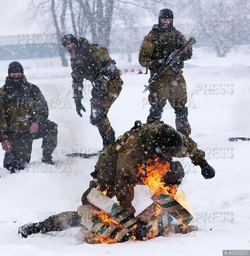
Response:
[[[81,100],[84,89],[83,81],[92,83],[91,117],[92,125],[96,125],[103,139],[103,148],[115,141],[115,131],[108,120],[108,110],[119,96],[122,89],[121,71],[115,67],[105,47],[89,44],[86,38],[79,40],[69,34],[63,38],[63,45],[71,54],[73,90],[77,113],[82,117],[85,111]]]

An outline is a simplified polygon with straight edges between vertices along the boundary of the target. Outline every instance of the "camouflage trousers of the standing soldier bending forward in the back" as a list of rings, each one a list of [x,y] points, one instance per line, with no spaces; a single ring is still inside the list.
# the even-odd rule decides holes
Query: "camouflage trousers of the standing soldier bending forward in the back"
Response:
[[[107,147],[115,141],[115,131],[108,120],[108,111],[121,93],[122,84],[122,79],[118,76],[110,79],[107,86],[99,83],[94,84],[92,88],[90,121],[92,125],[98,127],[99,134],[103,139],[103,147]]]

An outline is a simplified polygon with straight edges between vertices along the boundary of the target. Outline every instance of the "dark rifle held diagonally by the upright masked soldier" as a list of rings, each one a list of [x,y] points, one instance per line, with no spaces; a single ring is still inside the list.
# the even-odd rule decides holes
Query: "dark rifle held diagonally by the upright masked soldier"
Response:
[[[152,84],[157,81],[165,72],[166,69],[172,67],[173,65],[175,65],[177,63],[177,61],[179,61],[180,56],[182,56],[182,54],[184,53],[184,51],[186,51],[186,48],[195,44],[196,40],[195,38],[191,37],[189,38],[189,40],[187,41],[186,44],[184,44],[180,49],[176,49],[175,51],[172,52],[172,54],[170,54],[170,56],[168,57],[168,60],[164,61],[161,64],[160,70],[159,72],[156,72],[154,74],[154,76],[152,76],[151,82],[149,83],[149,85],[145,85],[145,90],[143,90],[143,93],[147,92],[147,90],[149,90],[149,88],[151,88]]]

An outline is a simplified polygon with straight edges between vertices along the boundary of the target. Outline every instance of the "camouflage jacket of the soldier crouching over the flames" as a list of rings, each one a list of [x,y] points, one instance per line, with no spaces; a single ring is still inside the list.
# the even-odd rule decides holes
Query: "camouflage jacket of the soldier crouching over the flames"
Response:
[[[135,210],[131,204],[133,187],[136,184],[143,184],[138,175],[138,166],[147,164],[147,161],[155,158],[154,140],[159,132],[166,130],[177,132],[163,122],[152,122],[142,127],[135,127],[117,138],[117,141],[107,147],[99,157],[96,168],[103,168],[102,163],[106,163],[107,158],[117,161],[116,170],[111,170],[110,164],[107,172],[116,172],[115,195],[122,207],[129,212]],[[200,159],[205,157],[205,153],[198,150],[195,141],[180,132],[177,133],[182,139],[182,146],[172,157],[189,157],[196,165]],[[126,198],[126,200],[121,200],[121,198]]]

